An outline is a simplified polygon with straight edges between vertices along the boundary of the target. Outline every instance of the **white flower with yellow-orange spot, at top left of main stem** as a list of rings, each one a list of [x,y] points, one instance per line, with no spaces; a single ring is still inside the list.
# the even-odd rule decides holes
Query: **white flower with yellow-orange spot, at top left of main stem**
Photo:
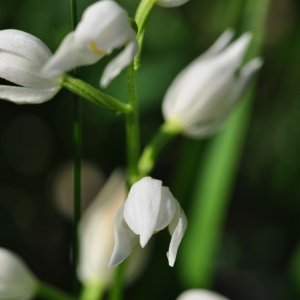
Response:
[[[132,62],[138,43],[127,12],[112,0],[98,1],[85,10],[76,30],[65,37],[45,72],[61,75],[75,67],[94,64],[123,46],[124,50],[104,70],[104,87]]]

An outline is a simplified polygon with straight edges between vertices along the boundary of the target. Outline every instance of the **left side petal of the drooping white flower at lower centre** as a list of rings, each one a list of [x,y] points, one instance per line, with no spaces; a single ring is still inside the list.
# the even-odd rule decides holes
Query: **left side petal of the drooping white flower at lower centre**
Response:
[[[115,267],[124,261],[132,252],[137,242],[137,236],[130,230],[124,220],[124,205],[119,208],[115,219],[115,245],[109,266]]]

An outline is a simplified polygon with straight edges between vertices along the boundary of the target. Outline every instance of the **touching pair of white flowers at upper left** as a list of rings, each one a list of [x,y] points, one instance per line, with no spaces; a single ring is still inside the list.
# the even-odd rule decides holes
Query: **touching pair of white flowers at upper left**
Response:
[[[76,30],[65,37],[54,55],[31,34],[0,30],[0,77],[18,85],[0,85],[0,98],[19,104],[50,100],[59,91],[65,72],[94,64],[122,47],[104,70],[103,87],[132,62],[138,51],[127,12],[112,0],[88,7]]]

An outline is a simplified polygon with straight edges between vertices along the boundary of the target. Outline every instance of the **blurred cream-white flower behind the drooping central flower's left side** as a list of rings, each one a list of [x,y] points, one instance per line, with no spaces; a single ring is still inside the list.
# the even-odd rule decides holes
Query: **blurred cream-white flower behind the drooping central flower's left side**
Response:
[[[85,285],[108,286],[113,278],[108,262],[114,245],[114,219],[125,199],[125,176],[117,170],[82,216],[78,276]],[[127,281],[134,279],[144,265],[145,256],[136,254],[126,270]]]

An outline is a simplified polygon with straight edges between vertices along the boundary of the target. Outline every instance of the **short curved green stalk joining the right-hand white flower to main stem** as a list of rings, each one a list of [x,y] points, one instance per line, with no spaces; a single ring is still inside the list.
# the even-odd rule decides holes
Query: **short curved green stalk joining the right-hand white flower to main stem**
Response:
[[[148,146],[145,147],[138,163],[140,178],[148,175],[164,147],[180,132],[182,128],[174,123],[164,123]]]

